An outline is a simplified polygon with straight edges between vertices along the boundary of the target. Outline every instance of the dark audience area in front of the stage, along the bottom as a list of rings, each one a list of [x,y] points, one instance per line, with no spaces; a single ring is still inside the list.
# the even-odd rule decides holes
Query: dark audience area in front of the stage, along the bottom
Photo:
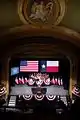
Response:
[[[60,112],[60,109],[43,107],[43,105],[42,107],[38,106],[35,109],[30,109],[29,112],[26,112],[26,110],[18,112],[15,109],[14,111],[6,110],[0,111],[0,118],[2,120],[77,120],[80,116],[80,99],[75,100],[70,109],[64,106],[62,108],[62,112]]]

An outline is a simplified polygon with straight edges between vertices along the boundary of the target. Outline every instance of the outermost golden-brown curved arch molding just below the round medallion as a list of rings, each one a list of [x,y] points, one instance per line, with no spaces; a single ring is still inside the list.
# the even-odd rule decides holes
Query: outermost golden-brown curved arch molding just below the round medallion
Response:
[[[80,34],[69,28],[63,26],[55,26],[49,28],[45,27],[35,27],[32,25],[22,25],[15,28],[10,28],[2,35],[0,35],[0,41],[4,42],[5,40],[19,39],[30,36],[45,36],[45,37],[54,37],[57,39],[65,40],[71,42],[78,47],[80,47]]]

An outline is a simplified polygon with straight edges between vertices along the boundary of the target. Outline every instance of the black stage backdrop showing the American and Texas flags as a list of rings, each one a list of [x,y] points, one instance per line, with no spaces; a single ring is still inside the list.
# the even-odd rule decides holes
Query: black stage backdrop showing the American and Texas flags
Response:
[[[33,61],[34,63],[31,63]],[[32,65],[25,67],[26,65]],[[35,65],[35,67],[34,67]],[[29,59],[29,58],[16,58],[12,59],[9,63],[9,84],[15,86],[16,77],[29,77],[31,73],[48,73],[50,78],[61,77],[65,89],[69,89],[70,79],[70,63],[66,58],[63,59]]]

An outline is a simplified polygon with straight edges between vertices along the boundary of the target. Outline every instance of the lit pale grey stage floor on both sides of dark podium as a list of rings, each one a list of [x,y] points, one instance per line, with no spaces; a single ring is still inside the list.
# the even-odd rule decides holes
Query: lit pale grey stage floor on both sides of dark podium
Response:
[[[32,95],[32,90],[31,86],[27,85],[16,85],[14,87],[11,87],[11,92],[10,95]],[[65,96],[68,95],[68,90],[65,90],[63,86],[47,86],[47,87],[42,87],[42,88],[47,88],[46,95],[60,95],[60,96]]]

